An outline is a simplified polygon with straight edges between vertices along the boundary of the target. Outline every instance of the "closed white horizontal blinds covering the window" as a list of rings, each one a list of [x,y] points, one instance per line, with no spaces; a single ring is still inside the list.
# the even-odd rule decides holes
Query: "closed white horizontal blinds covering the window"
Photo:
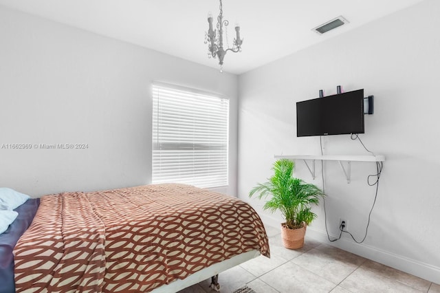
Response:
[[[228,185],[229,100],[153,85],[152,182]]]

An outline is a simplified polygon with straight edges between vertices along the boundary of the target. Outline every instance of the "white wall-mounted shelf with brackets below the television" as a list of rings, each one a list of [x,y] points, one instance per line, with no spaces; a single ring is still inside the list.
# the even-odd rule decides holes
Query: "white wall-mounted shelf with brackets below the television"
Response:
[[[350,183],[351,180],[351,162],[384,162],[384,155],[275,155],[276,159],[287,159],[287,160],[303,160],[307,169],[311,174],[311,177],[315,179],[315,160],[324,160],[324,161],[338,161],[342,171],[347,177],[347,183]],[[307,160],[311,160],[313,165],[309,166],[307,164]],[[344,164],[342,162],[347,162],[347,169],[344,168]]]

